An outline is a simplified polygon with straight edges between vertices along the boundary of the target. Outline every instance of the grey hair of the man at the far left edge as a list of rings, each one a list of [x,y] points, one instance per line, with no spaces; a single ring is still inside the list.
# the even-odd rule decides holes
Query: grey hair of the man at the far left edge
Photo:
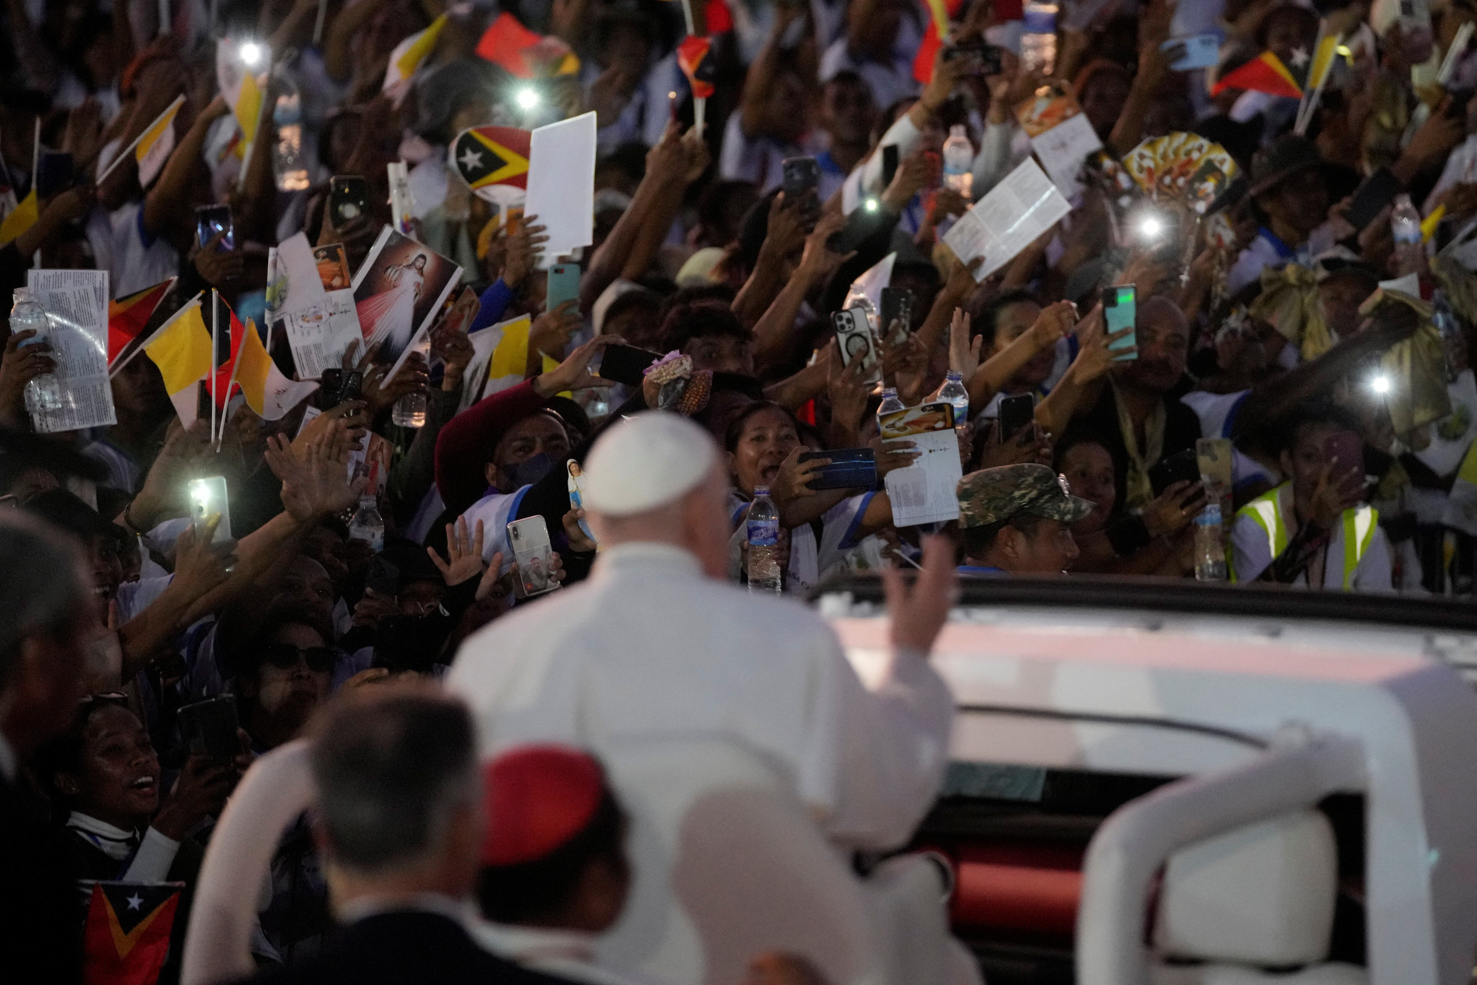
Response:
[[[83,557],[71,538],[19,509],[0,509],[0,690],[28,636],[69,635],[87,604]]]

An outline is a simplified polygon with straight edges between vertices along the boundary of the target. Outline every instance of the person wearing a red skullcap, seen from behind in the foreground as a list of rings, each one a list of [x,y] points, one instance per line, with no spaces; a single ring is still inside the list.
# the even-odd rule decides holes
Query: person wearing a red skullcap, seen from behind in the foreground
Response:
[[[524,967],[588,978],[595,935],[620,916],[631,886],[626,817],[604,769],[570,746],[518,746],[482,775],[476,938]]]

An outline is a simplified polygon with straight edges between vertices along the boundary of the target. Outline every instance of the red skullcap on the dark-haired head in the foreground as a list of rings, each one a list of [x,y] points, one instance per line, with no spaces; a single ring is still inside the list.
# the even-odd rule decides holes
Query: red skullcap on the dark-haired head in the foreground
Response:
[[[606,789],[600,763],[569,746],[518,746],[482,769],[487,792],[483,865],[546,857],[585,830]]]

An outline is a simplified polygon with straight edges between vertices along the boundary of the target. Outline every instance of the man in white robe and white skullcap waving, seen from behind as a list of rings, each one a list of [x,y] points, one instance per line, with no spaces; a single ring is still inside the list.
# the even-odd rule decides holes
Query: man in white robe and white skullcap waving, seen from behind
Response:
[[[948,758],[953,696],[928,662],[954,591],[947,543],[929,545],[911,594],[888,573],[894,653],[868,690],[818,614],[725,580],[728,480],[706,431],[638,415],[585,473],[592,576],[471,636],[448,678],[483,758],[538,741],[607,762],[642,743],[700,758],[716,738],[772,765],[833,843],[904,843]],[[626,802],[668,793],[622,789],[619,768],[613,781]]]

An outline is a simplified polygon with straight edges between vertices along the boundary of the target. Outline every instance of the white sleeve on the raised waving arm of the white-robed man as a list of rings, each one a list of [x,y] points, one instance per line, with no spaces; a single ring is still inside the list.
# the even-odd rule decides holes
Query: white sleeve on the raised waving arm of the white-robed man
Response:
[[[895,653],[874,690],[835,634],[817,641],[817,709],[801,761],[801,794],[842,845],[902,845],[938,796],[954,697],[926,654]]]

